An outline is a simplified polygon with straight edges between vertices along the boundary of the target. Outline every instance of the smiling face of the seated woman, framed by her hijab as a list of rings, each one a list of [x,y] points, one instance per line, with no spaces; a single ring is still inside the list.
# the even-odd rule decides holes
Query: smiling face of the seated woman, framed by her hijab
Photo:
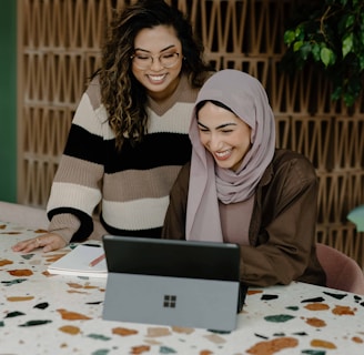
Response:
[[[216,164],[236,171],[251,148],[251,128],[233,112],[206,102],[198,112],[201,143]]]

